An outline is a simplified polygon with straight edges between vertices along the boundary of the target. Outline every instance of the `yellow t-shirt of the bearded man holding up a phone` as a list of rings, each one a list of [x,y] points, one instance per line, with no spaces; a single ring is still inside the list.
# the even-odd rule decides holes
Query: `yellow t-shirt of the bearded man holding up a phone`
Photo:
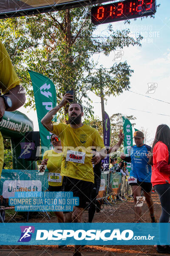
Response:
[[[53,123],[53,133],[60,137],[63,156],[61,165],[61,175],[72,177],[78,180],[91,181],[94,183],[94,171],[91,163],[92,154],[89,154],[92,147],[97,151],[105,148],[102,138],[96,129],[88,125],[80,128],[71,128],[70,125]],[[85,152],[84,163],[74,163],[66,161],[67,150]]]

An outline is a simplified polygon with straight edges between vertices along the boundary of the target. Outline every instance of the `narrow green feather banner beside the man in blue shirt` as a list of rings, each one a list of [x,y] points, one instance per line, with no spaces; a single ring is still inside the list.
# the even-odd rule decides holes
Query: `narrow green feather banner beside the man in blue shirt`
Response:
[[[133,133],[132,133],[132,125],[130,121],[122,116],[123,119],[123,133],[125,134],[125,138],[123,141],[124,144],[124,154],[129,154],[130,148],[133,146]],[[131,163],[127,163],[128,172],[130,172]]]

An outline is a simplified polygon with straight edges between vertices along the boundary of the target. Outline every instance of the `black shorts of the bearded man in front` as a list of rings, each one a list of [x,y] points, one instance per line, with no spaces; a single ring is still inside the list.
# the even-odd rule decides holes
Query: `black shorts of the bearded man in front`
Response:
[[[91,192],[94,184],[90,181],[77,180],[71,177],[63,177],[62,180],[62,191],[73,192],[73,196],[79,197],[79,206],[81,208],[87,208],[91,201]],[[67,213],[67,212],[63,212]]]

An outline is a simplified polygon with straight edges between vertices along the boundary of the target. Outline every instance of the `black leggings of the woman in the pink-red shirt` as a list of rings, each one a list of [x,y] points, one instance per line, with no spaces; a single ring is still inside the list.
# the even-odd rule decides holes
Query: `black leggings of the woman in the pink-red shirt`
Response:
[[[170,220],[170,184],[159,184],[154,186],[156,192],[159,194],[161,202],[161,216],[159,222],[167,223]]]

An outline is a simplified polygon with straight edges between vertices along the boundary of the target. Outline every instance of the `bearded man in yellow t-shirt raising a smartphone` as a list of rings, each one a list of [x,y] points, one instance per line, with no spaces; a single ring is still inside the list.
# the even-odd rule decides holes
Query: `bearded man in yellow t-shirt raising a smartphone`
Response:
[[[42,119],[42,125],[60,137],[63,146],[61,166],[62,191],[72,191],[79,197],[79,206],[73,212],[63,212],[65,222],[81,222],[82,212],[88,208],[94,183],[92,164],[99,163],[106,156],[105,145],[96,129],[82,123],[83,108],[79,103],[71,103],[73,95],[66,93],[58,106]],[[69,125],[53,123],[53,116],[67,103]],[[96,147],[96,151],[90,150]],[[71,148],[71,150],[69,150]],[[92,153],[91,153],[91,152]],[[81,246],[75,246],[74,256],[80,256]]]

